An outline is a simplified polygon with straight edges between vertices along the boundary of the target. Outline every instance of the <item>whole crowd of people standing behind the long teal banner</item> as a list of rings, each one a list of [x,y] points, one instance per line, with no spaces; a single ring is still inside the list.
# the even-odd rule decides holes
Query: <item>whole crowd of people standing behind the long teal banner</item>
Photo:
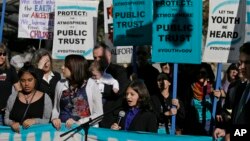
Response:
[[[62,72],[53,70],[48,50],[39,49],[16,70],[9,52],[0,46],[0,125],[15,132],[33,124],[51,123],[59,130],[103,115],[94,126],[113,130],[169,133],[176,116],[176,134],[229,139],[234,124],[249,124],[250,43],[240,47],[239,63],[231,64],[219,90],[208,63],[180,64],[177,98],[172,98],[173,64],[149,63],[150,48],[136,46],[136,63],[128,67],[111,62],[103,43],[93,49],[94,60],[68,55]],[[14,89],[13,89],[14,88]],[[216,118],[213,99],[219,99]],[[119,112],[125,116],[118,122]],[[216,127],[216,128],[215,128]]]

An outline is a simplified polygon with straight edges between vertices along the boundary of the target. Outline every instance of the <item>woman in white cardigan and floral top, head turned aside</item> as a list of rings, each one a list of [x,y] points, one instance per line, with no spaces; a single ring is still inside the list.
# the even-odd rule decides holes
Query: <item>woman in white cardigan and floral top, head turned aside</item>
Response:
[[[60,129],[61,123],[70,128],[103,114],[102,96],[96,82],[88,76],[88,62],[80,55],[68,55],[62,66],[65,80],[57,83],[52,123]]]

